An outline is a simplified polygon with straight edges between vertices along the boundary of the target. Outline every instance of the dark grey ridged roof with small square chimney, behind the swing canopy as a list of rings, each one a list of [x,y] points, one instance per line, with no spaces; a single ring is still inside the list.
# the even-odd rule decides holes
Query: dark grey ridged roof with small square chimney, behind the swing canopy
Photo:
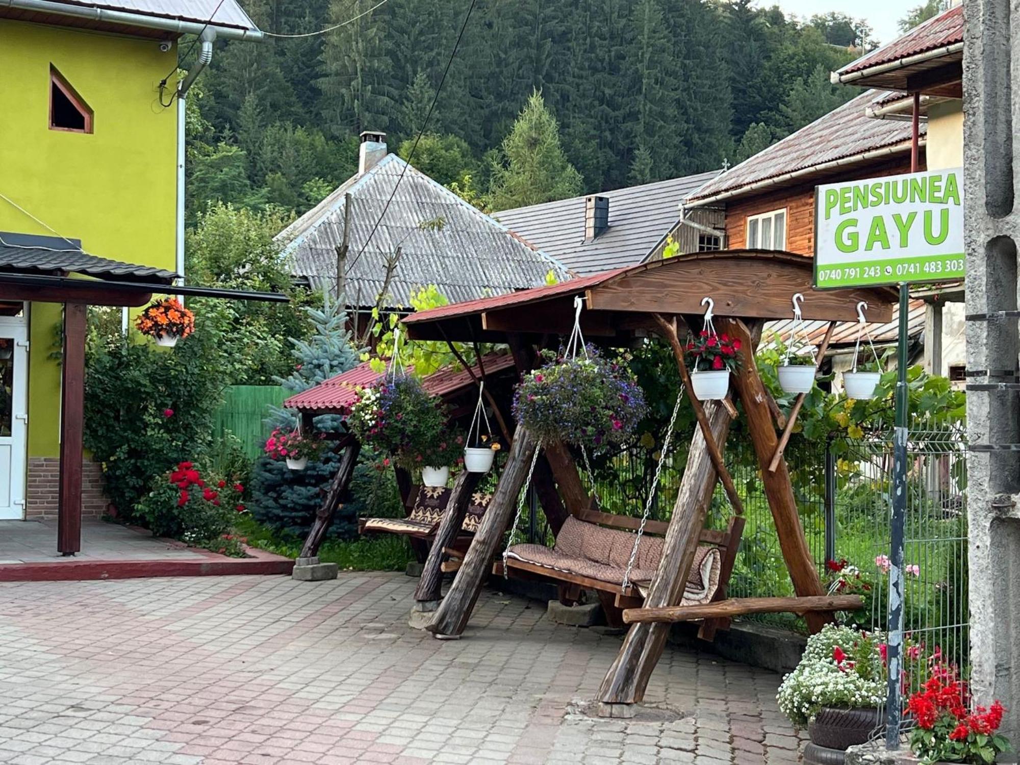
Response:
[[[609,228],[584,241],[584,199],[573,197],[493,217],[579,274],[641,263],[679,220],[678,205],[720,170],[600,192],[609,199]]]

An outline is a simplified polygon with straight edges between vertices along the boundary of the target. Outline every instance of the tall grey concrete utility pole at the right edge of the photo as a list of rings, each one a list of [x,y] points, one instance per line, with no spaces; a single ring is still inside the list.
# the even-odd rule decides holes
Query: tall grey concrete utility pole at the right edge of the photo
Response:
[[[978,703],[1012,710],[1004,731],[1020,733],[1020,394],[982,390],[1016,382],[1018,368],[1017,167],[1020,129],[1020,8],[1010,0],[965,0],[964,189],[967,248],[967,426],[972,687]],[[1020,138],[1017,139],[1020,141]],[[1018,147],[1020,148],[1020,147]],[[992,315],[996,312],[1012,312]],[[1013,448],[1011,449],[1011,445]],[[1015,657],[1015,658],[1014,658]],[[1014,666],[1016,662],[1016,666]]]

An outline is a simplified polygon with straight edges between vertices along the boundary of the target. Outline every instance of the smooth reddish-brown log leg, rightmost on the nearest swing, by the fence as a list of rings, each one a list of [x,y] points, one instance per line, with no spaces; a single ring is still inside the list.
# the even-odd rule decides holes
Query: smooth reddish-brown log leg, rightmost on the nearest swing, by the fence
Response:
[[[731,338],[737,338],[745,348],[753,349],[756,343],[747,325],[737,319],[720,319],[721,332],[726,332]],[[794,487],[789,480],[789,470],[781,461],[773,472],[768,469],[769,461],[775,454],[779,439],[772,427],[772,418],[768,411],[766,397],[768,393],[755,363],[753,352],[745,354],[744,363],[733,375],[733,386],[744,405],[744,416],[748,422],[751,443],[758,455],[762,469],[762,484],[765,497],[768,499],[772,520],[775,522],[776,536],[779,538],[779,548],[789,570],[789,578],[794,591],[803,597],[825,595],[818,569],[811,557],[811,549],[804,537],[801,516],[797,510],[797,500],[794,497]],[[670,604],[672,605],[672,604]],[[812,612],[807,614],[808,627],[817,632],[822,626],[833,619],[831,612]]]

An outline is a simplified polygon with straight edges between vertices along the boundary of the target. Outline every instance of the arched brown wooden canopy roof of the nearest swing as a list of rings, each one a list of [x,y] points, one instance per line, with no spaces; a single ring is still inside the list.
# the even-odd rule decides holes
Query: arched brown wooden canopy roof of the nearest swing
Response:
[[[617,268],[551,287],[434,308],[404,318],[415,340],[505,342],[508,334],[569,333],[574,297],[584,299],[581,329],[592,339],[626,342],[657,324],[653,314],[695,315],[702,299],[715,301],[717,316],[785,319],[790,298],[805,297],[806,320],[888,321],[896,291],[888,288],[815,290],[812,259],[787,252],[722,250]]]

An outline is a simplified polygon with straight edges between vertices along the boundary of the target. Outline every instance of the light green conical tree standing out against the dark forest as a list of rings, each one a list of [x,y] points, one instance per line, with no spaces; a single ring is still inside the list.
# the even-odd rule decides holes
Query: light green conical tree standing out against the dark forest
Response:
[[[497,210],[550,202],[580,193],[581,176],[563,154],[559,124],[536,90],[500,147],[492,170]]]

